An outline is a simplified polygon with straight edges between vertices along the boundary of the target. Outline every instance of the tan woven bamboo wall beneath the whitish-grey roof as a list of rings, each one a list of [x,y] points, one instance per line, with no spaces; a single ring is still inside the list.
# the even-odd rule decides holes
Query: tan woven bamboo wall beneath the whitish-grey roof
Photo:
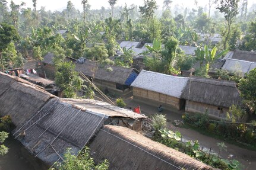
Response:
[[[140,88],[133,88],[133,95],[134,97],[141,97],[146,98],[148,100],[153,100],[157,102],[161,102],[163,104],[171,105],[172,107],[175,107],[178,110],[181,110],[180,101],[181,99],[176,97],[171,97],[169,95],[160,94],[158,92],[153,91],[147,91]]]

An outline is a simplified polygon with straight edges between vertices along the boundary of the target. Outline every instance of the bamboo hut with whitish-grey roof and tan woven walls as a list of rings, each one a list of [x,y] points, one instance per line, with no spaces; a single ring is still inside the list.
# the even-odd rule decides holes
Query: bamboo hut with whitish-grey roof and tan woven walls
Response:
[[[134,98],[182,110],[185,108],[185,100],[181,98],[181,94],[187,82],[188,78],[141,70],[131,86]]]

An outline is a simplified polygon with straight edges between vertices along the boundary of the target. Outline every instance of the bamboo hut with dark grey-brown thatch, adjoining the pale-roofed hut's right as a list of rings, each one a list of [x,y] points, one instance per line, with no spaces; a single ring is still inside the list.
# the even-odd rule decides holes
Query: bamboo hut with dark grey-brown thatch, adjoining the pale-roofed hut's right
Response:
[[[241,104],[235,82],[197,77],[192,77],[189,81],[182,93],[182,98],[187,100],[186,111],[208,111],[211,117],[224,118],[232,104]]]

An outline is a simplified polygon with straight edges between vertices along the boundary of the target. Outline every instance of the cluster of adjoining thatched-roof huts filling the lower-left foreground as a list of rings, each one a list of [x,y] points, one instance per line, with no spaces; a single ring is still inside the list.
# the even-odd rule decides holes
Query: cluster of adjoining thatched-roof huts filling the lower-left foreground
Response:
[[[0,115],[11,116],[15,139],[48,165],[62,161],[67,148],[77,155],[89,146],[96,163],[108,159],[110,169],[213,169],[136,132],[146,116],[102,101],[59,98],[2,72]]]

